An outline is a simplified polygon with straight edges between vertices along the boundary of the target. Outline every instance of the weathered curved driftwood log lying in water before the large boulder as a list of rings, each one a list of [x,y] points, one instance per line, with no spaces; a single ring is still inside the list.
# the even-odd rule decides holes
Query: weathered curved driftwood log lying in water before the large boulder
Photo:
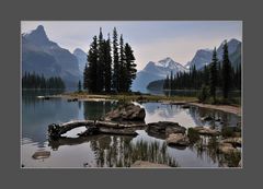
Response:
[[[112,121],[95,121],[95,120],[77,120],[61,125],[52,123],[48,126],[48,135],[52,139],[58,139],[61,134],[78,128],[87,127],[87,130],[79,133],[80,137],[94,135],[99,133],[137,135],[136,130],[146,128],[144,122],[112,122]]]

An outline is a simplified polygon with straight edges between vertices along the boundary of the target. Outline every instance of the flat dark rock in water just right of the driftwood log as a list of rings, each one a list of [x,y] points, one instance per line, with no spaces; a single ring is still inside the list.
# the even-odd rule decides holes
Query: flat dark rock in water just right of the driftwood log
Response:
[[[159,122],[151,122],[148,123],[147,133],[149,135],[165,139],[171,133],[185,133],[185,128],[180,126],[178,122],[170,122],[170,121],[159,121]]]

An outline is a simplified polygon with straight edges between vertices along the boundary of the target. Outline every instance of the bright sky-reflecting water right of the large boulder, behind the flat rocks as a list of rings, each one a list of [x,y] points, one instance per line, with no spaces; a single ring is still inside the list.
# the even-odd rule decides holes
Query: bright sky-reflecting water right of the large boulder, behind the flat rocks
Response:
[[[190,128],[196,126],[204,127],[237,127],[241,118],[220,110],[190,106],[182,108],[181,105],[170,105],[160,103],[141,104],[146,108],[146,122],[175,121],[181,126]],[[204,121],[204,117],[211,117],[213,120]]]

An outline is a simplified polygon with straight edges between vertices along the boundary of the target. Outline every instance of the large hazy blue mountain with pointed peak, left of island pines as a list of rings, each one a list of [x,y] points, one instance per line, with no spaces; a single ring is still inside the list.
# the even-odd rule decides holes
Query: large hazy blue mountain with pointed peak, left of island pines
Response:
[[[77,87],[80,76],[78,59],[49,40],[42,25],[22,34],[22,72],[60,76],[67,87]]]

